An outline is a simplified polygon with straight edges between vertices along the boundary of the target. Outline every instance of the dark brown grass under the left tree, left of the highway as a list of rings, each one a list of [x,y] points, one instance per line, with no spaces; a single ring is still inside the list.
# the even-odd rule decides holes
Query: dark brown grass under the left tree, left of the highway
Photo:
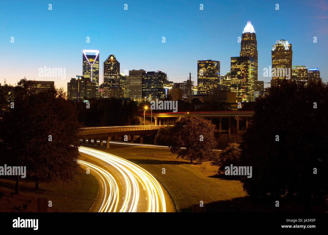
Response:
[[[5,194],[0,198],[0,212],[36,212],[37,198],[52,201],[49,212],[88,212],[98,193],[97,180],[81,167],[74,181],[69,181],[69,186],[66,182],[63,186],[63,182],[56,181],[39,183],[40,190],[34,190],[34,186],[34,182],[20,181],[20,193],[10,195],[15,192],[15,181],[1,179],[0,192],[5,191]],[[26,209],[23,204],[27,204]]]

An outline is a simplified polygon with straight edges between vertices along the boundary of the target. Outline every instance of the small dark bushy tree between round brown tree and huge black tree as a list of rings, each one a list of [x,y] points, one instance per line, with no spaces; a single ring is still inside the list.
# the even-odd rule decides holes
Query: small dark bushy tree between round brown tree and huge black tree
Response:
[[[229,143],[228,147],[225,148],[219,157],[219,170],[218,173],[224,172],[225,167],[233,164],[234,166],[239,166],[239,157],[240,157],[241,150],[239,149],[239,144],[236,143]],[[232,170],[232,169],[231,169]]]

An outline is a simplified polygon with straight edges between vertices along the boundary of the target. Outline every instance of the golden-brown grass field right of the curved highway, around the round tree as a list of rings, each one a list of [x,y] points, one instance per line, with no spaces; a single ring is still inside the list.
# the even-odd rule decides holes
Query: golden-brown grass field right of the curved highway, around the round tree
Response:
[[[200,201],[207,204],[206,211],[211,211],[211,205],[212,210],[217,211],[216,203],[226,204],[245,197],[240,181],[217,178],[218,166],[209,161],[190,164],[189,160],[176,159],[165,148],[112,144],[111,149],[97,149],[132,161],[154,174],[169,189],[179,211],[191,211],[192,204],[199,204]],[[162,174],[162,168],[165,168],[166,174]]]

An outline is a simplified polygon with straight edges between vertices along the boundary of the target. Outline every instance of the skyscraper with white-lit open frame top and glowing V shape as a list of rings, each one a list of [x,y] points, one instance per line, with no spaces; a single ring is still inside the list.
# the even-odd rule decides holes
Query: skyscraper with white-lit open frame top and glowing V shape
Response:
[[[99,51],[82,51],[82,76],[90,78],[91,82],[96,83],[96,91],[99,91]]]

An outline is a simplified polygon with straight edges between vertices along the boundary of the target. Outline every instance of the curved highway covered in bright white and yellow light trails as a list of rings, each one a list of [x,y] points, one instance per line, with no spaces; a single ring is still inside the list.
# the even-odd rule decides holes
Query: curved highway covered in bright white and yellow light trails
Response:
[[[138,165],[92,148],[79,147],[80,154],[96,161],[78,160],[101,181],[101,193],[93,207],[98,212],[166,212],[161,185]]]

